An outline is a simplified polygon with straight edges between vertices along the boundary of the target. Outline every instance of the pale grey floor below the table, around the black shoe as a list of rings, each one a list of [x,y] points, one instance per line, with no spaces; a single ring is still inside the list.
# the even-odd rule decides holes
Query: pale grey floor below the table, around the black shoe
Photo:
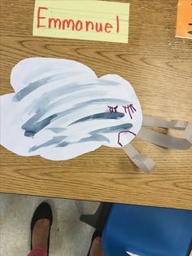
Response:
[[[30,221],[41,201],[50,203],[54,222],[50,233],[50,256],[87,254],[92,227],[79,221],[81,214],[92,214],[97,202],[55,199],[40,196],[0,194],[0,255],[26,256],[30,247]]]

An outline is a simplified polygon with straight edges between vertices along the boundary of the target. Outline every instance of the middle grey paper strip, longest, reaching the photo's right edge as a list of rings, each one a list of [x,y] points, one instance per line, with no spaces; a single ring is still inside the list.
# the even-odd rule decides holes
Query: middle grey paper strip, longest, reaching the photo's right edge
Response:
[[[155,130],[143,128],[137,134],[137,137],[144,139],[164,148],[175,148],[185,150],[190,148],[192,143],[192,126],[187,125],[183,138],[177,138],[171,135],[163,135]]]

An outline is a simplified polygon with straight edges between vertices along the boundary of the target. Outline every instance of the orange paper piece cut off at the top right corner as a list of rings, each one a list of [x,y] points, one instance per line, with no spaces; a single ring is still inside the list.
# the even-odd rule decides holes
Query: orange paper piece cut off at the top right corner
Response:
[[[177,11],[178,38],[192,38],[192,0],[179,0]]]

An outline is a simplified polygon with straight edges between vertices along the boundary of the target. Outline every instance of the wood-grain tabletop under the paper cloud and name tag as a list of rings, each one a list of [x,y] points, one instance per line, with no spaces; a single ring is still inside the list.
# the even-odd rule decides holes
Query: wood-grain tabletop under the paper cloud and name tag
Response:
[[[33,37],[34,1],[2,0],[1,95],[12,91],[10,73],[18,61],[66,58],[98,76],[117,73],[127,79],[144,114],[192,123],[192,40],[174,37],[177,0],[128,2],[130,39],[120,44]],[[116,148],[48,161],[1,147],[1,192],[192,209],[192,148],[167,150],[139,139],[133,144],[157,162],[151,174],[137,170]]]

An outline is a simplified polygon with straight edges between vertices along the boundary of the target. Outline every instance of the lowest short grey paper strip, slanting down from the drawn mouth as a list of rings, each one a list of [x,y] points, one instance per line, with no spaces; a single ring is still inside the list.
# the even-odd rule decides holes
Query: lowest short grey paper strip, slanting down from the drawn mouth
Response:
[[[142,155],[137,152],[137,149],[134,148],[130,143],[122,148],[139,169],[144,170],[147,174],[150,173],[151,170],[155,169],[155,161],[151,159],[151,157],[147,157],[146,155]]]

